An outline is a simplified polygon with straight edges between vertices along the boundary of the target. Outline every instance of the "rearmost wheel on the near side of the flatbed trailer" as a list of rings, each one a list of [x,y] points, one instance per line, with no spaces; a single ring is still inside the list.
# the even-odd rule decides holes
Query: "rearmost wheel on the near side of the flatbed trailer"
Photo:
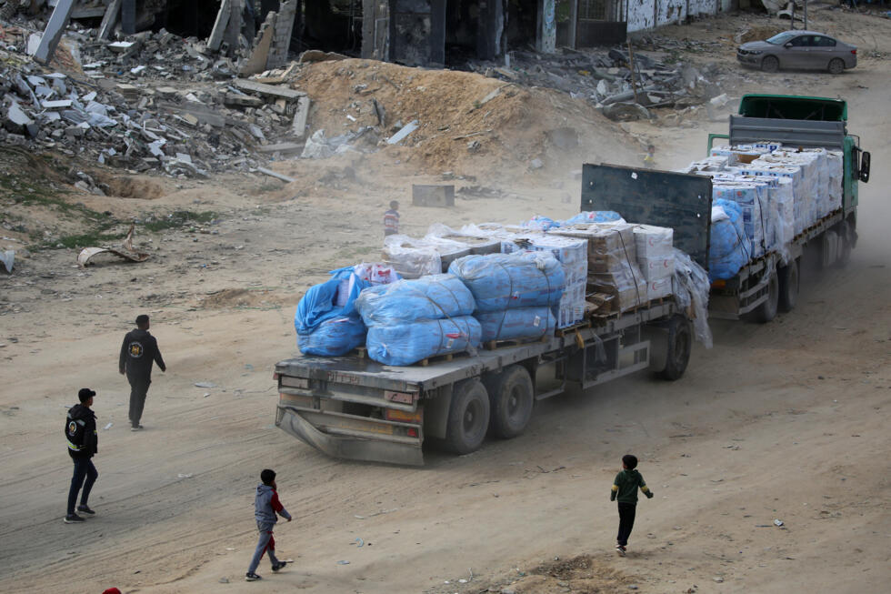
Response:
[[[478,379],[459,381],[452,388],[445,448],[456,454],[476,451],[489,428],[489,395]]]

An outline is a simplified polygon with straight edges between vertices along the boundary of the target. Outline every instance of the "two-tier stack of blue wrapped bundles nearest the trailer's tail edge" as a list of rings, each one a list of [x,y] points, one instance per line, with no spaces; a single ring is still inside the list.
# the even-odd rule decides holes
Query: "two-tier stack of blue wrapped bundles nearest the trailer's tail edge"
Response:
[[[355,302],[368,336],[368,357],[385,365],[411,365],[426,357],[473,350],[479,322],[474,296],[454,275],[430,275],[366,289]]]

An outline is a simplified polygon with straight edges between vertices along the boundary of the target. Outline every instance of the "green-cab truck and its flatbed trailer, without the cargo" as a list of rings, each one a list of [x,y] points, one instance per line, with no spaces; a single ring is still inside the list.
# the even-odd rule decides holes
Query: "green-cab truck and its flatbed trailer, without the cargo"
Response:
[[[856,182],[868,180],[869,154],[847,135],[846,105],[836,99],[744,96],[729,136],[710,136],[709,148],[716,137],[733,145],[777,140],[845,151],[843,206],[798,234],[785,256],[767,252],[711,287],[710,316],[766,322],[777,308],[795,306],[807,247],[816,247],[828,266],[856,245]],[[703,267],[711,196],[706,176],[583,167],[582,210],[615,210],[628,221],[672,227],[675,247]],[[693,343],[689,315],[670,298],[657,300],[621,315],[590,317],[539,342],[479,349],[427,366],[390,367],[357,355],[286,359],[275,365],[275,425],[335,458],[422,465],[428,442],[466,454],[487,435],[516,437],[537,400],[567,388],[585,390],[645,369],[681,378]]]

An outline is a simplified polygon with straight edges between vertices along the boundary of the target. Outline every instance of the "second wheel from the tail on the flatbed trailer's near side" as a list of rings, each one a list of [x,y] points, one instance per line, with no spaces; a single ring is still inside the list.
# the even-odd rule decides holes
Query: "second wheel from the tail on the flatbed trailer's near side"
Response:
[[[525,367],[511,365],[488,374],[483,385],[489,393],[489,431],[496,438],[510,439],[523,433],[535,403],[532,378]]]

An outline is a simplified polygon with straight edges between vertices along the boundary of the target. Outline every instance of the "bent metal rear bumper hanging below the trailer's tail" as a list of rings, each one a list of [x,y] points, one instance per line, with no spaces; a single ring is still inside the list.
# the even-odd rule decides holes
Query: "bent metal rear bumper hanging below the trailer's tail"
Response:
[[[315,428],[313,423],[304,418],[305,414],[324,415],[334,430],[336,427],[341,427],[342,432],[350,432],[354,435],[325,433],[325,431]],[[367,418],[356,418],[355,420],[363,424],[370,422]],[[278,428],[333,458],[411,466],[424,465],[420,436],[418,438],[386,440],[372,429],[368,431],[368,437],[364,438],[358,435],[360,431],[348,428],[350,424],[350,419],[343,415],[309,413],[286,404],[278,405],[278,414],[275,416],[275,425]],[[385,425],[381,423],[381,426]]]

